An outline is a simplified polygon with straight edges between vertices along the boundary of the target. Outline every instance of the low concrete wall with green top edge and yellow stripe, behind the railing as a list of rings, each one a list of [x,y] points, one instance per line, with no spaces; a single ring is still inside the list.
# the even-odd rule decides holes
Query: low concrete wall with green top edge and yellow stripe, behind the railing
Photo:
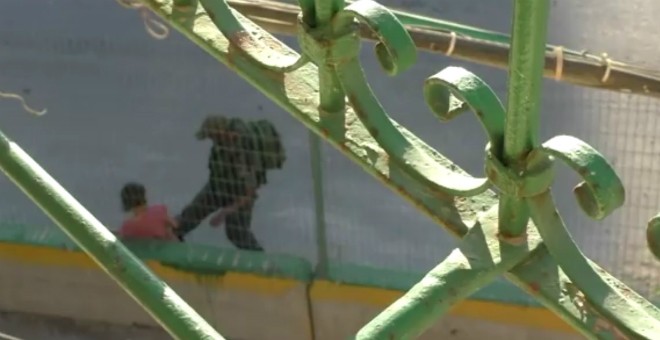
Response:
[[[5,228],[0,232],[0,311],[68,318],[82,324],[158,327],[69,241],[59,234],[28,231]],[[319,280],[314,279],[308,262],[293,257],[158,242],[128,246],[229,339],[345,339],[421,277],[333,264],[328,278]],[[1,327],[2,323],[3,332]],[[496,282],[457,305],[422,339],[485,336],[577,337],[550,311],[513,286]]]

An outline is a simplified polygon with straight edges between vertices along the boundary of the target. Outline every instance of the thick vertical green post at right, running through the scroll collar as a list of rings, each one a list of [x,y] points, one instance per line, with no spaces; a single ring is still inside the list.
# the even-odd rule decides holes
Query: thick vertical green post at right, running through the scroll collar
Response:
[[[536,146],[541,86],[550,5],[548,0],[515,0],[509,52],[509,85],[503,158],[520,169],[527,153]],[[500,233],[516,237],[525,232],[529,212],[521,198],[502,196]]]

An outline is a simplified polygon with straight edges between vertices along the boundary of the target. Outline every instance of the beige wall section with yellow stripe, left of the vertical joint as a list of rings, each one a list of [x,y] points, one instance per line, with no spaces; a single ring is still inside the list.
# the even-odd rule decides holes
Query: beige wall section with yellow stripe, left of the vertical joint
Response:
[[[0,244],[0,310],[123,326],[158,324],[81,252]],[[149,263],[230,339],[311,339],[307,283],[240,272],[193,275]]]

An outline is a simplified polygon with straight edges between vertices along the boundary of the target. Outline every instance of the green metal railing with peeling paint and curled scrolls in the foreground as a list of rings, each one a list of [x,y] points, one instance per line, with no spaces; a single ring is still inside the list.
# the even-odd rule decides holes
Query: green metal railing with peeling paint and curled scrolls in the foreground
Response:
[[[425,82],[426,102],[441,120],[476,114],[488,136],[483,178],[467,175],[392,120],[373,94],[359,59],[360,24],[377,36],[376,57],[387,74],[405,71],[417,56],[402,22],[382,5],[300,0],[298,54],[225,0],[144,4],[460,238],[446,259],[357,339],[414,338],[501,275],[588,338],[660,334],[660,310],[586,258],[555,208],[550,190],[555,160],[582,178],[575,196],[593,219],[620,207],[625,193],[604,157],[583,141],[570,136],[538,141],[548,0],[515,0],[506,107],[463,68],[447,67]],[[316,136],[311,145],[318,156]],[[16,144],[3,136],[0,146],[3,171],[172,336],[221,338]],[[313,175],[320,176],[320,168]],[[499,203],[490,188],[499,193]],[[322,189],[315,188],[319,197]],[[322,202],[317,215],[319,244],[325,244]],[[647,230],[649,246],[660,257],[660,216]],[[323,273],[327,254],[319,252]]]

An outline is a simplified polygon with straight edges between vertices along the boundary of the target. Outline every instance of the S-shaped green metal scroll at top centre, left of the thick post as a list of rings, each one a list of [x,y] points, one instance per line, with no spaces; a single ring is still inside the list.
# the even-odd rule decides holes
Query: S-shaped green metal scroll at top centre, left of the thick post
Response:
[[[371,136],[385,150],[391,161],[410,177],[424,183],[431,191],[441,191],[455,196],[472,196],[487,190],[489,183],[486,178],[474,178],[446,169],[419,145],[409,141],[392,123],[368,85],[358,59],[360,38],[357,21],[364,23],[378,36],[376,56],[381,67],[389,75],[398,74],[410,67],[416,60],[416,49],[407,31],[394,14],[370,0],[357,1],[339,11],[332,21],[331,30],[326,32],[331,34],[330,40],[334,45],[329,47],[330,52],[326,55],[325,63],[334,67],[357,117]],[[316,33],[316,36],[303,37],[299,40],[310,41],[322,36],[317,32],[303,33],[310,35]],[[327,36],[324,38],[328,39]],[[322,43],[318,45],[327,47]],[[312,50],[303,46],[303,51],[306,50],[311,50],[308,53],[314,56],[312,59],[320,53],[318,48]],[[478,79],[471,74],[468,76],[473,80]],[[431,87],[435,88],[434,85]],[[458,96],[465,95],[465,98],[472,98],[469,89],[464,89],[460,82],[453,84],[451,88]],[[462,90],[466,90],[466,93],[462,93]],[[449,100],[449,97],[446,100]],[[470,104],[474,102],[471,101]]]

